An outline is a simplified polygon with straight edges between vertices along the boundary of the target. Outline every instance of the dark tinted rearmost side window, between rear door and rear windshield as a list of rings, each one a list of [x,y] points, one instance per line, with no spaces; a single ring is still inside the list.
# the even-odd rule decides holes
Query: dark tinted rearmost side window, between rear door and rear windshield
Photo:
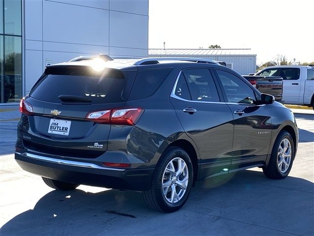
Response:
[[[136,74],[129,100],[152,95],[169,74],[171,68],[140,70]]]

